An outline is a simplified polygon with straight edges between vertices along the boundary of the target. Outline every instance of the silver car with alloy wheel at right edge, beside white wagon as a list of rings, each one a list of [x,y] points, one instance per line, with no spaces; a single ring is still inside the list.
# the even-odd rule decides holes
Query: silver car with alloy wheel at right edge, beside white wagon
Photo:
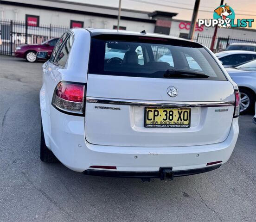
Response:
[[[239,87],[241,96],[240,112],[253,111],[256,101],[256,60],[233,68],[226,68],[226,70]]]

